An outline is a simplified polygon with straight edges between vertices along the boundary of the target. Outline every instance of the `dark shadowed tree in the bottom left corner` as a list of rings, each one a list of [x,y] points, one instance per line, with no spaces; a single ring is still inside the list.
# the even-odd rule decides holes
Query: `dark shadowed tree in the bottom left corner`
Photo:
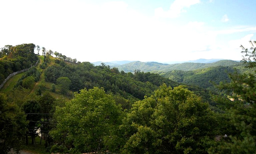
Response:
[[[12,148],[16,153],[22,148],[27,131],[26,115],[7,97],[0,94],[0,151],[8,153]]]

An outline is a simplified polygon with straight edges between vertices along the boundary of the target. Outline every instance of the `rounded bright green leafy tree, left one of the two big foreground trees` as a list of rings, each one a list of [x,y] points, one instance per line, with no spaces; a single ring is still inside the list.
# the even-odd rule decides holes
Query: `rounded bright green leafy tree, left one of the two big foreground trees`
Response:
[[[122,109],[103,88],[82,89],[66,107],[57,107],[55,115],[57,127],[50,135],[61,146],[72,145],[69,153],[115,151]]]

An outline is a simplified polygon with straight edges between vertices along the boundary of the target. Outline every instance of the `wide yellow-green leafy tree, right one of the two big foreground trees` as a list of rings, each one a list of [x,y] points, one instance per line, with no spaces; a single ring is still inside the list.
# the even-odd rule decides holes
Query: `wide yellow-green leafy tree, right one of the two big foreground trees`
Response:
[[[216,119],[201,98],[184,86],[165,84],[134,103],[121,129],[124,153],[206,153],[205,139],[215,137]]]

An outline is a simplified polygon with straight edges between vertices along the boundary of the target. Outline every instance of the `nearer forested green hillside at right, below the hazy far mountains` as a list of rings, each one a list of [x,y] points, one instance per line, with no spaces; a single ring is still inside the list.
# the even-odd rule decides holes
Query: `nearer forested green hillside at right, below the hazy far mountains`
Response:
[[[208,67],[210,66],[210,67]],[[230,82],[229,74],[238,73],[253,73],[255,68],[246,68],[245,64],[235,61],[221,60],[213,64],[206,64],[203,68],[183,71],[183,70],[172,70],[172,71],[158,71],[158,73],[170,80],[186,85],[196,85],[202,88],[216,91],[215,85],[220,82]]]

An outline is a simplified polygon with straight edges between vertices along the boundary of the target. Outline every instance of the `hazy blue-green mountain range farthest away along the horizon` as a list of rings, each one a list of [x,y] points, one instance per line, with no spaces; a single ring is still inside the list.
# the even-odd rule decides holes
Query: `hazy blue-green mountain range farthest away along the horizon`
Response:
[[[140,70],[143,72],[168,72],[172,70],[192,71],[216,66],[236,66],[241,63],[233,60],[222,59],[198,59],[175,64],[163,64],[158,62],[140,62],[140,61],[114,61],[114,62],[95,62],[94,65],[104,63],[110,67],[117,67],[119,71],[133,72]]]

